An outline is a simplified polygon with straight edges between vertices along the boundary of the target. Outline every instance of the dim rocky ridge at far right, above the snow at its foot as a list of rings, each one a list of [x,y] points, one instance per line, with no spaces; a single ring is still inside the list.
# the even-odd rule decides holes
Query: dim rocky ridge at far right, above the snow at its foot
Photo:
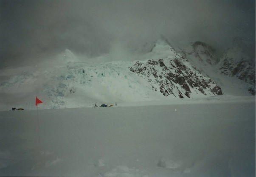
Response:
[[[245,92],[255,95],[255,60],[248,56],[248,46],[242,39],[234,39],[232,46],[221,55],[210,45],[199,41],[191,43],[187,48],[180,48],[180,53],[214,81],[223,76],[228,80],[237,78],[247,84]]]

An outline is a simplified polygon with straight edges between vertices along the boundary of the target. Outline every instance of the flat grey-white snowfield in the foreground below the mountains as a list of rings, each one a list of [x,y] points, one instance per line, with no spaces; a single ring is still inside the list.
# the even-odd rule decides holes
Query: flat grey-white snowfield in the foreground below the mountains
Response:
[[[0,176],[254,177],[255,96],[180,101],[0,112]]]

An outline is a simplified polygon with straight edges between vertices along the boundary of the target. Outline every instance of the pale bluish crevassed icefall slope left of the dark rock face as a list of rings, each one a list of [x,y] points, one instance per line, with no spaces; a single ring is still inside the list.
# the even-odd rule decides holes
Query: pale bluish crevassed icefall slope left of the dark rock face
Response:
[[[23,107],[37,95],[44,108],[90,107],[123,101],[161,99],[146,80],[132,73],[127,62],[68,62],[23,71],[0,84],[1,104]],[[164,96],[163,96],[164,97]],[[9,108],[10,109],[10,108]]]

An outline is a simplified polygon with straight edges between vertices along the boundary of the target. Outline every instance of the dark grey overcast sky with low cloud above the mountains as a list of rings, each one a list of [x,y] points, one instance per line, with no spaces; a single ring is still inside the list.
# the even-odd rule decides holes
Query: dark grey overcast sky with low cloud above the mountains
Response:
[[[160,37],[200,40],[215,48],[242,37],[255,46],[255,0],[0,2],[2,65],[66,48],[87,56],[108,53],[116,46],[141,52]]]

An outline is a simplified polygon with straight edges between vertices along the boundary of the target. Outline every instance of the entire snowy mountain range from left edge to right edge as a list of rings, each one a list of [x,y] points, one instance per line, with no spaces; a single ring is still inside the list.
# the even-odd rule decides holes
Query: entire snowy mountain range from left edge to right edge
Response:
[[[44,102],[39,107],[52,109],[255,93],[248,57],[237,48],[222,56],[217,63],[203,42],[175,50],[167,40],[133,62],[82,62],[67,49],[33,67],[0,70],[0,107],[31,109],[35,96]]]

